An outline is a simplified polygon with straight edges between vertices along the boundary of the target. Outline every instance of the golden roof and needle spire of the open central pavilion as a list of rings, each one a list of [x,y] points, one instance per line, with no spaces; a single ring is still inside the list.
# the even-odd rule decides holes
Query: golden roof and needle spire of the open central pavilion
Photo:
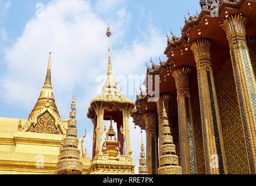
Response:
[[[110,103],[116,102],[116,103],[128,103],[130,105],[135,104],[133,101],[130,101],[129,99],[125,98],[125,96],[123,96],[123,94],[120,92],[118,88],[118,85],[116,84],[115,78],[112,73],[112,64],[111,64],[110,47],[109,47],[109,37],[111,36],[111,30],[109,26],[106,31],[106,35],[108,36],[108,72],[106,77],[106,83],[102,88],[101,94],[99,94],[96,98],[94,98],[91,101],[90,106],[88,108],[88,114],[91,112],[90,109],[94,102],[110,102]]]

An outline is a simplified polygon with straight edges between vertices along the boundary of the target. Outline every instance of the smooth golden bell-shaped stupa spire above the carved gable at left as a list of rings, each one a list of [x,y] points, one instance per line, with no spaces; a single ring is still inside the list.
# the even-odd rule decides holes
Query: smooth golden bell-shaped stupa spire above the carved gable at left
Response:
[[[48,106],[49,108],[53,109],[54,112],[59,115],[59,111],[55,104],[54,93],[52,92],[52,83],[51,83],[51,52],[49,53],[49,60],[48,60],[48,67],[47,67],[47,74],[45,77],[44,85],[42,86],[42,91],[40,96],[35,103],[35,106],[32,112],[29,115],[29,119],[33,117],[39,110]],[[28,119],[28,120],[29,120]]]

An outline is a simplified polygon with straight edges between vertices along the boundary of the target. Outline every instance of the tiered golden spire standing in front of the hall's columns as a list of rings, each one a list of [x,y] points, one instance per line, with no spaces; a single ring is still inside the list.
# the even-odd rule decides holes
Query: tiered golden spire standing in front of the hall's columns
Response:
[[[163,98],[163,97],[162,97]],[[170,134],[169,120],[162,98],[158,101],[161,106],[161,144],[158,174],[182,174],[182,167],[179,166],[179,158],[176,155],[175,144]],[[158,109],[159,110],[159,109]]]

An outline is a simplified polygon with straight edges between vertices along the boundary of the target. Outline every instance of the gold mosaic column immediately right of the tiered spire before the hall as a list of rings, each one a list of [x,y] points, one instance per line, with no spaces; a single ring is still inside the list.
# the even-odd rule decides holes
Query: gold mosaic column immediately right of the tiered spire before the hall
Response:
[[[195,148],[193,140],[193,118],[190,102],[190,67],[181,67],[173,71],[177,88],[179,115],[180,156],[183,174],[196,174]]]

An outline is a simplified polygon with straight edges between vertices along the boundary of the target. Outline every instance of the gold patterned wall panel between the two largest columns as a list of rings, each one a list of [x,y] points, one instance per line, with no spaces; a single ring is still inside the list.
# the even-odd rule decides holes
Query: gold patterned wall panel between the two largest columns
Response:
[[[250,174],[243,124],[231,61],[215,74],[216,92],[229,174]]]

